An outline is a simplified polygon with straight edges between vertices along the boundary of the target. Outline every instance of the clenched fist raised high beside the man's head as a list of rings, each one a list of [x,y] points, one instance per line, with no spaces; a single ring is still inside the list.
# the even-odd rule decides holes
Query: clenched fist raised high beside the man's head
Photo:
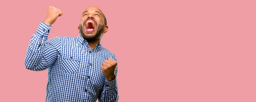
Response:
[[[47,25],[52,25],[61,15],[62,11],[60,9],[49,6],[46,17],[44,19],[44,23],[46,23]]]

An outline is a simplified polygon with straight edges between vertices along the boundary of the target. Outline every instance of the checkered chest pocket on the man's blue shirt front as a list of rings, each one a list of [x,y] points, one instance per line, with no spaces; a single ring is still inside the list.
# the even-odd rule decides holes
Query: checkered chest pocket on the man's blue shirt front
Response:
[[[74,74],[79,71],[80,62],[72,59],[62,59],[61,69],[67,74]]]

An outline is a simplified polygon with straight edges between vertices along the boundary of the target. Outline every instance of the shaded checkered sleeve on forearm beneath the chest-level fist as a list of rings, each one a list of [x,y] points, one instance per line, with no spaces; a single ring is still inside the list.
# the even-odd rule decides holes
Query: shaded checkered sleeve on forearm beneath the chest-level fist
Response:
[[[116,57],[114,57],[114,60],[116,60]],[[115,75],[117,77],[117,67],[115,69]],[[99,98],[99,102],[117,102],[119,99],[118,95],[118,87],[117,87],[117,81],[116,78],[112,81],[108,81],[105,79],[105,86],[102,91],[102,95]]]

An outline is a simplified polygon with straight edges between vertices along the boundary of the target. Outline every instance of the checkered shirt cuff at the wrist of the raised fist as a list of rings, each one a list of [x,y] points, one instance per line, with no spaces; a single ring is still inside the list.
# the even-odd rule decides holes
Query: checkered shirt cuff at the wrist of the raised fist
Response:
[[[49,35],[49,31],[51,29],[51,25],[47,25],[46,23],[44,23],[43,21],[40,22],[40,25],[37,29],[37,31],[42,35],[42,36],[48,36]]]

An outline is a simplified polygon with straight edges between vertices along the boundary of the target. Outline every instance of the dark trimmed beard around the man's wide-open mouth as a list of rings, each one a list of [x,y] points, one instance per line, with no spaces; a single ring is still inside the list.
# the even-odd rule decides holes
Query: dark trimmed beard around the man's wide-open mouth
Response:
[[[83,26],[82,26],[81,24],[79,25],[79,31],[80,31],[80,33],[81,33],[81,36],[82,36],[86,41],[88,41],[88,42],[90,42],[90,41],[95,41],[96,39],[100,39],[100,36],[102,35],[103,30],[104,30],[104,25],[99,24],[99,25],[97,26],[96,33],[95,33],[94,36],[86,36],[86,35],[84,34],[84,28],[83,28]]]

